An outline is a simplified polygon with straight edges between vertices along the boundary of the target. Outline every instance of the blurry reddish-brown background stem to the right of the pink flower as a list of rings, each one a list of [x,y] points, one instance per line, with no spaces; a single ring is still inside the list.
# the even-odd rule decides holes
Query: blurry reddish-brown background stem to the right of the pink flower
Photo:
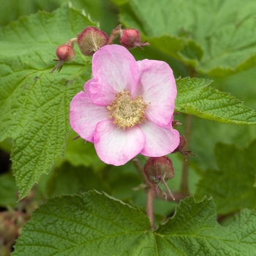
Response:
[[[186,146],[187,150],[189,150],[190,145],[190,130],[192,126],[192,116],[186,116],[186,123],[185,123],[185,138],[187,140]],[[189,195],[189,158],[184,159],[183,168],[182,168],[182,175],[181,175],[181,193],[185,195]]]

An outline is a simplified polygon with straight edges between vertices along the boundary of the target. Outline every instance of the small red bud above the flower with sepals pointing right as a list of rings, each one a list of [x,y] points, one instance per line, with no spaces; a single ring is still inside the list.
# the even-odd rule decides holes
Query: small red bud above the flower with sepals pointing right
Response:
[[[137,29],[122,29],[120,42],[127,49],[149,45],[147,41],[141,42],[140,32]]]

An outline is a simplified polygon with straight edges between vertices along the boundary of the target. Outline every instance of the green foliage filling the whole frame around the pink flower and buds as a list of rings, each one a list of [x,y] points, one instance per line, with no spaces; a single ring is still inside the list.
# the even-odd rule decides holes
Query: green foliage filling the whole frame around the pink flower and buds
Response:
[[[0,206],[18,211],[16,192],[26,199],[30,189],[34,208],[44,203],[13,255],[256,255],[256,3],[62,3],[0,1],[0,146],[7,163]],[[143,214],[146,196],[132,163],[105,165],[92,144],[71,140],[69,102],[91,78],[91,58],[75,45],[75,61],[50,74],[57,46],[86,26],[110,34],[119,23],[151,44],[132,50],[135,59],[172,67],[178,130],[197,154],[189,157],[187,191],[196,200],[157,198],[157,230]],[[178,195],[184,159],[170,158],[176,176],[168,185]]]

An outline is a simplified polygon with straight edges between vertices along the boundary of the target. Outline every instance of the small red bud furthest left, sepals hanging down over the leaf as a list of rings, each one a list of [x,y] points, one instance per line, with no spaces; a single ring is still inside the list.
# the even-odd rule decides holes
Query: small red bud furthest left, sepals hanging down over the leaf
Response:
[[[72,38],[67,41],[64,45],[60,45],[56,50],[56,56],[58,59],[53,59],[53,61],[58,61],[56,66],[50,73],[53,73],[55,69],[61,71],[64,62],[71,62],[75,59],[75,50],[73,48],[74,42],[76,42],[76,38]]]

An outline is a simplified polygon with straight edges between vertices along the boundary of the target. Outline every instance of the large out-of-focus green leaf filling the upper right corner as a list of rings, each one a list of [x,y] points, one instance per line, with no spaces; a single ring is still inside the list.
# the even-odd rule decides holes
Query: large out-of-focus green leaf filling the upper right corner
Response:
[[[225,76],[256,64],[255,1],[115,2],[125,26],[139,29],[154,48],[198,72]]]

